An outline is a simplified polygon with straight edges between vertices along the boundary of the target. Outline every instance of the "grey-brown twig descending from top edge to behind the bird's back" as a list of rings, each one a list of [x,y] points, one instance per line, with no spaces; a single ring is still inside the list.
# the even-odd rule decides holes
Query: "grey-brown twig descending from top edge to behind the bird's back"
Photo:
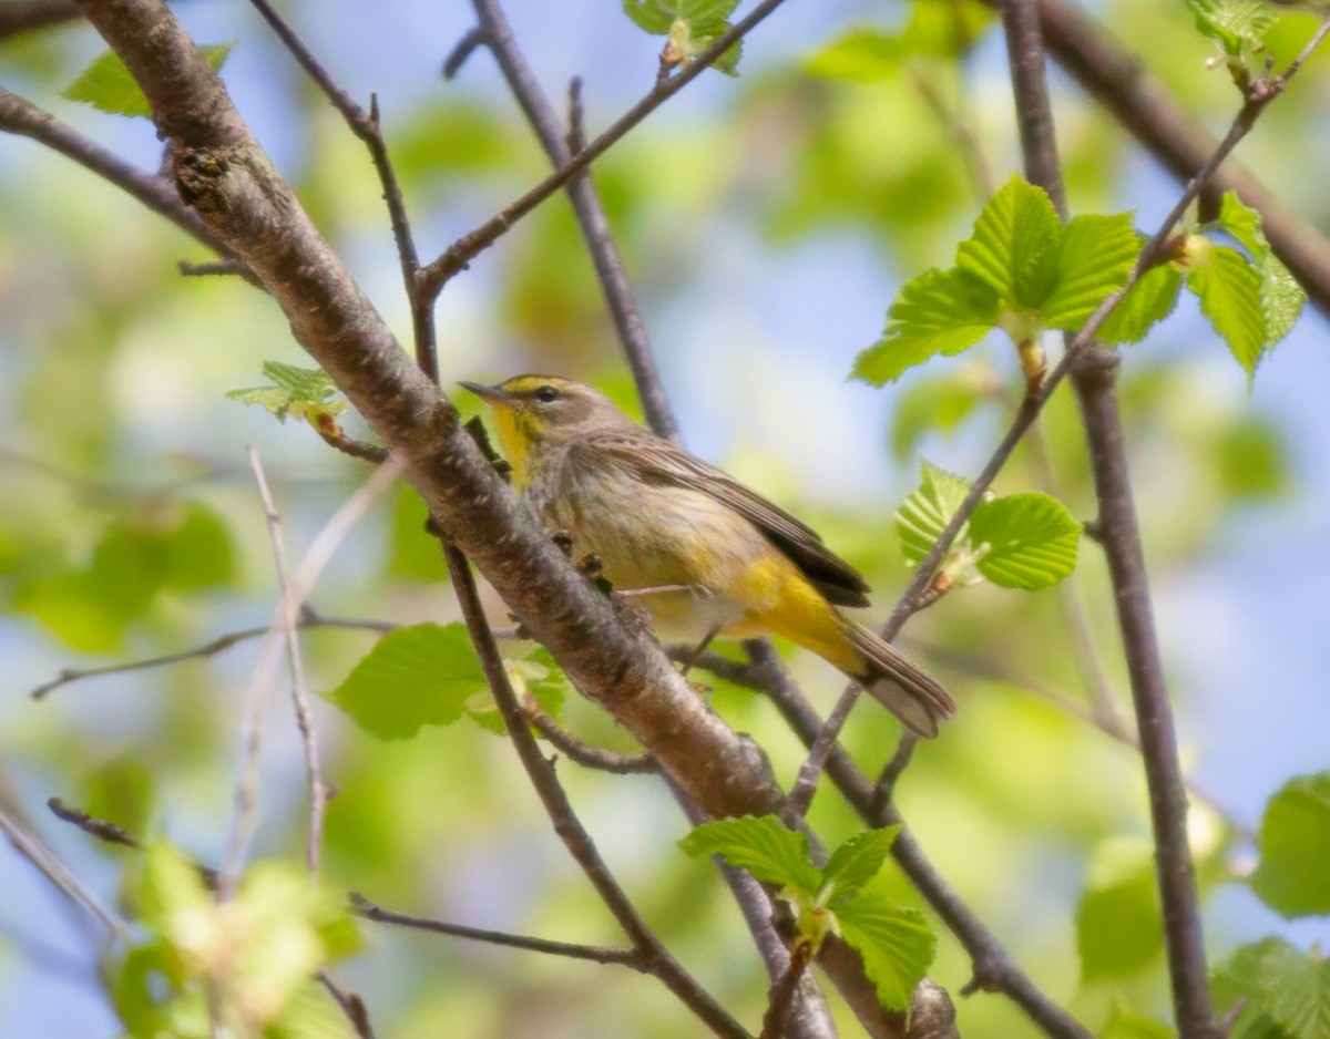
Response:
[[[517,98],[527,121],[540,138],[541,147],[556,169],[565,166],[575,154],[580,154],[587,146],[580,94],[581,81],[575,78],[569,86],[569,120],[565,137],[559,114],[517,47],[499,0],[472,0],[472,5],[480,23],[480,40],[499,62],[499,69]],[[605,304],[613,318],[614,331],[633,372],[646,423],[657,434],[668,440],[677,440],[678,423],[670,408],[669,397],[661,387],[656,357],[646,336],[646,326],[628,284],[624,260],[614,244],[609,218],[605,215],[605,207],[600,201],[600,193],[596,190],[591,170],[587,169],[568,181],[567,191],[577,218],[577,226],[596,267],[596,276],[600,279]]]

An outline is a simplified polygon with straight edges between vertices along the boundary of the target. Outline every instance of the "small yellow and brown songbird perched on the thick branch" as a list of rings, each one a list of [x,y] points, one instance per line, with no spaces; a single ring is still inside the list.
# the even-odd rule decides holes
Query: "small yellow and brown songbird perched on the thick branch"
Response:
[[[863,578],[811,529],[642,429],[601,392],[551,375],[462,383],[493,411],[517,493],[543,526],[640,597],[661,638],[782,635],[858,682],[920,736],[952,717],[947,691],[837,607],[868,605]]]

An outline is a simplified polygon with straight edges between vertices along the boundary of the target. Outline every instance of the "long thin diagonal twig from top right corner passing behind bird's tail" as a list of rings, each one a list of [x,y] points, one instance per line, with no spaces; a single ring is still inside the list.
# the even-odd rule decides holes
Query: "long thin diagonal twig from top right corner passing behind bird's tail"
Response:
[[[1229,133],[1224,137],[1220,146],[1201,167],[1197,178],[1186,186],[1173,209],[1169,210],[1168,215],[1160,225],[1160,230],[1156,231],[1154,236],[1150,238],[1149,242],[1145,243],[1145,247],[1141,250],[1140,256],[1137,256],[1136,263],[1132,264],[1132,270],[1128,271],[1123,287],[1111,292],[1085,320],[1081,330],[1069,339],[1063,359],[1047,375],[1040,392],[1037,395],[1027,393],[1021,399],[1021,403],[1016,409],[1016,415],[1007,432],[1003,434],[1001,441],[999,441],[998,448],[994,450],[988,462],[975,478],[975,482],[971,485],[970,492],[960,502],[955,514],[938,535],[932,549],[928,550],[928,554],[915,569],[914,577],[906,586],[900,598],[896,601],[896,605],[882,630],[884,639],[888,642],[894,639],[900,632],[900,628],[904,627],[906,620],[908,620],[920,609],[920,605],[927,602],[927,594],[932,586],[934,575],[938,566],[942,563],[943,557],[956,539],[956,534],[960,533],[960,527],[968,522],[975,506],[979,505],[983,496],[988,492],[988,488],[998,477],[998,473],[1001,472],[1003,466],[1011,458],[1021,437],[1024,437],[1025,432],[1039,417],[1044,403],[1072,371],[1077,357],[1080,357],[1080,355],[1093,343],[1095,335],[1103,327],[1104,322],[1108,320],[1109,315],[1117,308],[1117,304],[1123,302],[1123,298],[1130,292],[1132,288],[1134,288],[1136,283],[1146,271],[1165,258],[1165,244],[1172,236],[1174,225],[1182,218],[1186,207],[1192,205],[1193,199],[1196,199],[1196,197],[1201,193],[1205,181],[1214,173],[1229,153],[1237,147],[1238,142],[1254,125],[1256,117],[1265,110],[1265,106],[1283,92],[1289,80],[1302,66],[1311,52],[1319,47],[1327,33],[1330,33],[1330,21],[1326,21],[1317,31],[1298,57],[1293,60],[1283,73],[1258,80],[1253,84],[1248,101],[1234,117],[1233,124],[1229,128]],[[831,715],[827,717],[826,732],[823,733],[825,739],[819,739],[814,743],[811,751],[809,752],[809,757],[799,769],[799,776],[790,791],[789,810],[791,813],[802,816],[807,812],[807,806],[813,800],[813,793],[817,791],[818,776],[822,773],[827,756],[835,745],[835,740],[839,737],[841,729],[845,727],[845,721],[850,716],[850,711],[859,699],[859,694],[861,690],[858,686],[847,687],[841,695],[841,699],[837,702]]]

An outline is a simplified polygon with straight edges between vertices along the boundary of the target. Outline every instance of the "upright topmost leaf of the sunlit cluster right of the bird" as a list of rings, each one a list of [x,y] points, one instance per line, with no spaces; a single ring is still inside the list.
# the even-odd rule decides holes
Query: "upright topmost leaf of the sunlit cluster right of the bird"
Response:
[[[1009,310],[1039,310],[1057,279],[1063,227],[1048,194],[1012,177],[956,248],[956,267],[984,280]]]

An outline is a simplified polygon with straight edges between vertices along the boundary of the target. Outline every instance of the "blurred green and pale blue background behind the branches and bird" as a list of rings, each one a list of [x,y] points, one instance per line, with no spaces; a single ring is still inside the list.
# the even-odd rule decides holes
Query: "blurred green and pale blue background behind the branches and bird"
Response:
[[[656,74],[660,41],[609,0],[509,7],[551,93],[573,73],[585,77],[593,130]],[[468,5],[398,0],[370,13],[321,0],[285,9],[354,96],[379,93],[426,252],[543,174],[488,54],[455,82],[439,78],[469,25]],[[391,236],[359,142],[247,5],[196,0],[180,13],[200,41],[235,40],[225,78],[241,110],[406,339]],[[1206,69],[1212,44],[1184,4],[1128,0],[1100,13],[1206,122],[1226,125],[1237,96],[1222,69]],[[790,4],[749,40],[738,80],[708,73],[596,167],[690,446],[794,508],[862,567],[878,589],[875,619],[907,575],[890,517],[919,458],[978,470],[1020,385],[996,340],[887,391],[843,383],[855,353],[880,335],[898,284],[950,263],[987,195],[926,93],[959,98],[995,185],[1017,162],[992,27],[976,29],[959,69],[918,53],[918,41],[850,52],[854,60],[829,50],[851,27],[890,33],[907,17],[906,4]],[[1271,50],[1290,54],[1311,25],[1285,19]],[[153,169],[160,154],[146,122],[60,97],[101,49],[78,25],[0,41],[0,82]],[[1330,203],[1307,171],[1326,161],[1317,132],[1325,64],[1313,61],[1241,153],[1321,227]],[[1053,86],[1073,211],[1138,209],[1138,226],[1150,227],[1177,189],[1063,77]],[[309,429],[226,400],[258,381],[262,360],[303,359],[270,300],[235,279],[182,279],[181,258],[203,259],[84,170],[0,138],[0,767],[5,800],[37,816],[108,899],[134,872],[133,856],[48,820],[41,801],[61,796],[218,861],[255,646],[89,679],[41,703],[27,692],[65,666],[172,652],[269,619],[274,575],[245,444],[258,445],[274,478],[295,551],[364,478]],[[556,371],[630,395],[563,199],[450,284],[439,323],[448,380]],[[1289,776],[1326,767],[1323,343],[1323,319],[1309,314],[1249,387],[1184,302],[1125,357],[1133,477],[1186,760],[1228,812],[1197,804],[1193,818],[1216,962],[1269,933],[1299,947],[1327,937],[1325,917],[1285,922],[1234,881],[1254,864],[1249,833],[1266,797]],[[1065,395],[1047,411],[1044,441],[1059,497],[1088,518],[1093,500]],[[1037,458],[1019,454],[999,492],[1043,486],[1045,476]],[[407,492],[395,492],[343,546],[313,601],[338,615],[451,619],[422,520]],[[1076,582],[1125,706],[1103,561],[1089,545]],[[315,688],[335,687],[371,640],[310,632]],[[923,845],[1083,1020],[1127,1028],[1137,1027],[1130,1015],[1166,1019],[1140,763],[1028,688],[1085,703],[1059,593],[968,590],[911,623],[907,640],[926,660],[940,646],[1008,678],[934,664],[962,716],[920,749],[899,791]],[[805,655],[791,664],[830,706],[839,678]],[[769,704],[724,686],[714,704],[793,777],[801,748]],[[614,941],[507,741],[467,720],[380,741],[327,703],[317,712],[339,791],[326,842],[336,886],[459,922]],[[626,749],[577,698],[567,721]],[[871,707],[853,720],[847,744],[867,769],[894,748],[892,725]],[[668,945],[755,1020],[761,965],[714,870],[674,846],[686,822],[660,783],[571,764],[560,776]],[[259,854],[298,861],[305,813],[299,744],[278,700],[263,745]],[[833,792],[819,795],[813,818],[833,841],[858,829]],[[903,880],[880,882],[915,899]],[[114,1034],[86,937],[16,857],[0,856],[0,1034]],[[343,975],[383,1035],[666,1036],[692,1027],[658,983],[628,971],[364,930],[368,949]],[[956,994],[968,963],[938,930],[931,975]],[[960,1015],[966,1035],[1031,1031],[996,996],[960,1000]]]

